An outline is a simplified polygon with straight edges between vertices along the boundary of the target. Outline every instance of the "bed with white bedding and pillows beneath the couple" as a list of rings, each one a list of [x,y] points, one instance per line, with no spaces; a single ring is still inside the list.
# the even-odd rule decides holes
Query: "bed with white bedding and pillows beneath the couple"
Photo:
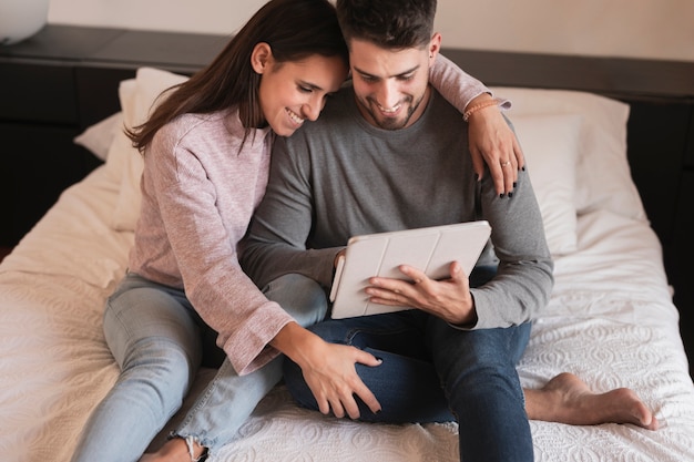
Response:
[[[119,89],[121,111],[75,141],[103,165],[61,195],[0,265],[0,454],[70,459],[88,415],[118,376],[104,299],[123,277],[142,163],[119,127],[146,116],[185,79],[143,68]],[[632,388],[661,428],[531,421],[537,461],[694,461],[694,386],[678,314],[626,158],[629,106],[596,94],[494,88],[528,157],[557,284],[518,370],[525,387],[559,372],[594,391]],[[185,412],[213,369],[198,373]],[[367,424],[297,408],[278,384],[213,454],[231,461],[457,461],[457,425]]]

